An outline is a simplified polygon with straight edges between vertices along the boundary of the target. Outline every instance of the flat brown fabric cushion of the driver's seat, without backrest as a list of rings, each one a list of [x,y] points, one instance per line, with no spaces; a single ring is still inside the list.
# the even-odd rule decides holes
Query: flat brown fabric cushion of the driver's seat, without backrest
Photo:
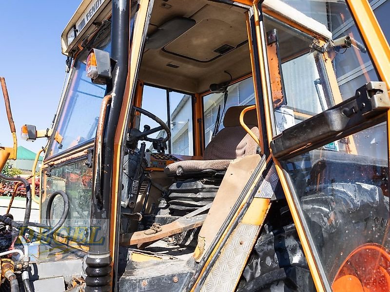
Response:
[[[225,171],[228,169],[231,161],[231,159],[179,161],[173,164],[168,164],[164,168],[164,172],[169,176],[176,176],[208,169]]]

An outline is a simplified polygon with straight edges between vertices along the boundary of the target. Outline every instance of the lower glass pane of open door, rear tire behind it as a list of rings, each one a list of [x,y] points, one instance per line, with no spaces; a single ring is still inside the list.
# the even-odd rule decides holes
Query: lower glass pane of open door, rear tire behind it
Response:
[[[364,244],[390,249],[388,163],[385,123],[282,162],[329,283]],[[362,256],[346,268],[359,279],[380,270],[377,256]]]

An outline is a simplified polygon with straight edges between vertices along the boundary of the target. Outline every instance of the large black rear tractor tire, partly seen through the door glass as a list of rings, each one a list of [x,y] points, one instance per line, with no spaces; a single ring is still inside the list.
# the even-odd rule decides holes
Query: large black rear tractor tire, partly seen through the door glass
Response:
[[[366,243],[390,249],[389,197],[364,183],[333,183],[301,198],[330,284],[347,256]],[[384,238],[384,236],[386,238]],[[273,202],[237,291],[316,291],[289,208]]]

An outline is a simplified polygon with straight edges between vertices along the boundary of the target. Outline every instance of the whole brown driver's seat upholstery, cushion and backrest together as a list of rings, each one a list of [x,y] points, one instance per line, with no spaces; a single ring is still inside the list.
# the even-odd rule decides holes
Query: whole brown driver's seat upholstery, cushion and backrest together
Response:
[[[223,120],[225,128],[221,129],[207,145],[203,160],[187,160],[169,164],[164,172],[169,176],[176,176],[207,170],[225,171],[232,160],[256,154],[256,142],[239,122],[239,115],[246,107],[231,107],[226,111]],[[254,126],[257,124],[256,111],[248,111],[244,121],[258,137],[259,130]]]

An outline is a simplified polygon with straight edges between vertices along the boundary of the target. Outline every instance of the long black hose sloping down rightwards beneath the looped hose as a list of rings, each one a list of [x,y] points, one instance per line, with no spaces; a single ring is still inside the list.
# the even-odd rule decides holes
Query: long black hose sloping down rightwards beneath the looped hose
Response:
[[[53,239],[53,236],[47,236],[45,233],[39,233],[33,229],[30,229],[28,227],[23,227],[22,224],[12,220],[11,218],[8,218],[8,217],[5,217],[5,216],[2,216],[0,215],[0,222],[3,222],[5,225],[9,225],[9,226],[12,226],[12,227],[15,227],[17,229],[19,229],[20,231],[23,230],[23,232],[28,229],[30,231],[30,235],[35,237],[36,239],[33,240],[33,241],[39,241],[39,240],[42,240],[48,244],[52,244],[52,239]],[[63,243],[63,242],[59,242],[59,241],[55,241],[56,243],[56,247],[59,248],[60,250],[62,251],[66,251],[66,252],[70,252],[71,254],[74,254],[78,257],[84,257],[87,255],[86,252],[83,252],[83,251],[80,251],[66,243]]]

